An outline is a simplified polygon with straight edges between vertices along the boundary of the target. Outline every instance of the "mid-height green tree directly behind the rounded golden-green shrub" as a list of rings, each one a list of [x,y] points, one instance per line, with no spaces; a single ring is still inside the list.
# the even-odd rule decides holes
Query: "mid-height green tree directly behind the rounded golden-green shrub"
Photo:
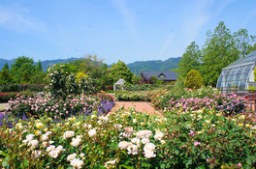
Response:
[[[185,77],[189,70],[199,70],[201,62],[201,50],[196,42],[187,46],[185,53],[178,63],[178,73]]]

